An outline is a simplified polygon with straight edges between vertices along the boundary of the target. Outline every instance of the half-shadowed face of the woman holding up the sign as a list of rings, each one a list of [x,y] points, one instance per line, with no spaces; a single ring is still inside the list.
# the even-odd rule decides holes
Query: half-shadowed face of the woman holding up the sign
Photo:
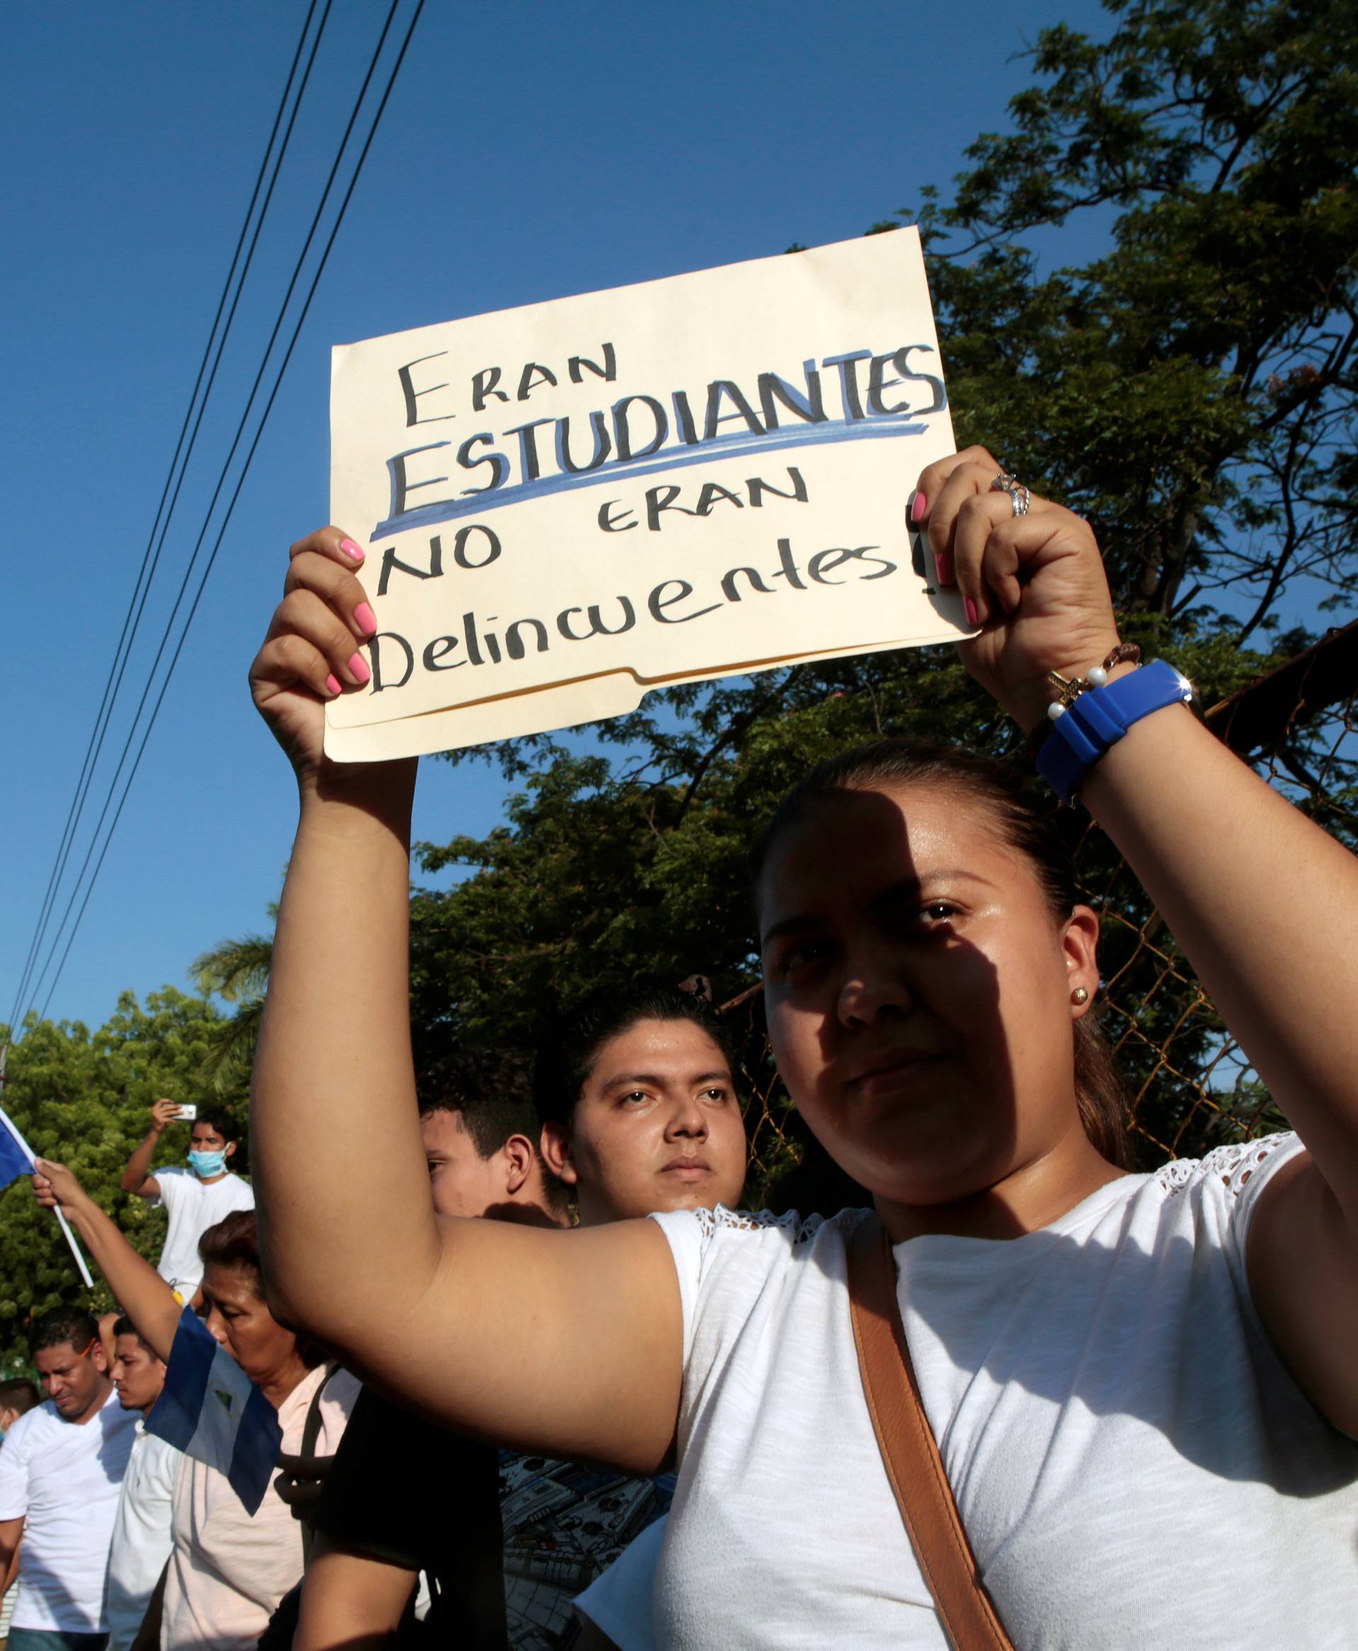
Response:
[[[836,1162],[881,1197],[943,1204],[1077,1128],[1087,918],[1057,923],[957,789],[848,791],[786,830],[760,880],[770,1037]]]

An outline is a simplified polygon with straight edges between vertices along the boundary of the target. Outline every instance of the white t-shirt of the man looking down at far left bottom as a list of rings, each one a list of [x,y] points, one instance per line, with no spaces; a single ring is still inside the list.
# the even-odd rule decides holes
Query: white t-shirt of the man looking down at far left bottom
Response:
[[[0,1450],[0,1519],[23,1519],[13,1628],[104,1631],[104,1575],[137,1412],[109,1392],[88,1422],[38,1405]]]

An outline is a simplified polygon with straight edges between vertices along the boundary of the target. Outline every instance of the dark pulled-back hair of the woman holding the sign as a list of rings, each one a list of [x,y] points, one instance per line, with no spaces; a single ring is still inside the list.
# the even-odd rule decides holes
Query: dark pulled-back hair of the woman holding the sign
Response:
[[[783,832],[801,824],[839,791],[874,791],[892,784],[947,786],[983,804],[1001,839],[1033,867],[1056,921],[1069,918],[1079,903],[1079,893],[1059,811],[1034,796],[1028,776],[1019,769],[981,756],[980,751],[914,738],[879,740],[843,751],[819,763],[793,786],[750,855],[755,898],[758,900],[768,855]],[[1132,1169],[1128,1091],[1112,1050],[1094,1015],[1082,1015],[1074,1024],[1074,1037],[1075,1098],[1084,1131],[1110,1164]]]

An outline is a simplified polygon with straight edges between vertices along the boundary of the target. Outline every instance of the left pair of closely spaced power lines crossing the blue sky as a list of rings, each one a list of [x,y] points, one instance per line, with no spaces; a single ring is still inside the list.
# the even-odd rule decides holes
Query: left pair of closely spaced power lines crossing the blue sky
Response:
[[[147,596],[150,594],[150,586],[152,581],[155,580],[155,571],[160,565],[160,553],[165,546],[165,535],[170,527],[170,517],[173,515],[175,504],[178,502],[178,492],[180,487],[183,485],[183,477],[188,471],[188,461],[193,456],[193,446],[198,439],[198,428],[202,426],[203,413],[207,411],[208,404],[208,396],[211,395],[211,386],[216,378],[216,367],[221,362],[221,352],[225,350],[226,337],[231,330],[231,322],[236,314],[236,304],[240,302],[240,296],[245,287],[245,279],[249,272],[249,263],[254,256],[254,248],[259,241],[259,229],[264,225],[264,216],[269,210],[269,200],[273,198],[273,188],[274,183],[278,182],[278,173],[279,168],[283,167],[283,158],[287,152],[287,144],[292,135],[292,124],[296,122],[297,109],[301,107],[302,94],[306,92],[307,79],[311,78],[311,69],[312,64],[316,63],[316,51],[317,46],[321,45],[321,36],[325,31],[325,20],[330,12],[330,0],[325,0],[325,12],[321,18],[321,26],[316,31],[316,38],[312,40],[311,56],[307,58],[307,66],[302,74],[301,84],[297,88],[297,96],[292,102],[292,117],[287,122],[287,130],[284,132],[283,144],[278,150],[278,158],[273,168],[273,178],[269,180],[268,193],[264,195],[264,203],[254,226],[254,236],[249,243],[249,251],[245,256],[245,264],[241,264],[241,248],[245,246],[246,234],[249,233],[249,223],[251,218],[254,216],[254,208],[259,201],[259,192],[264,187],[264,178],[269,172],[269,155],[273,154],[274,142],[278,139],[278,130],[279,125],[283,124],[283,116],[292,91],[292,83],[297,76],[297,64],[302,56],[302,48],[306,46],[306,38],[307,31],[311,30],[312,17],[316,15],[316,5],[317,0],[311,0],[306,20],[302,21],[302,31],[297,36],[297,46],[296,51],[292,53],[292,63],[287,69],[287,79],[284,81],[283,86],[283,96],[279,97],[278,109],[274,111],[273,127],[269,129],[269,140],[264,145],[264,155],[259,162],[259,172],[256,173],[254,178],[254,188],[249,196],[249,205],[245,210],[245,221],[241,223],[241,233],[236,238],[236,248],[231,254],[231,264],[226,271],[226,281],[223,282],[221,296],[216,300],[216,314],[213,315],[211,327],[208,329],[208,342],[203,347],[203,358],[198,363],[198,375],[193,380],[193,390],[190,391],[188,406],[185,408],[183,413],[183,423],[180,424],[178,429],[178,439],[175,441],[175,451],[173,457],[170,459],[170,469],[165,474],[165,485],[160,490],[160,502],[155,507],[155,517],[152,518],[150,535],[147,537],[145,551],[142,553],[142,565],[137,570],[137,578],[132,581],[132,596],[129,598],[127,603],[127,613],[122,617],[122,631],[119,634],[117,644],[114,646],[112,662],[109,664],[109,670],[104,679],[104,692],[99,700],[99,710],[94,715],[94,728],[91,730],[89,743],[86,745],[84,750],[84,759],[81,761],[79,778],[76,779],[76,791],[71,799],[71,807],[66,812],[66,824],[61,830],[61,842],[58,845],[56,857],[53,860],[53,870],[51,875],[48,877],[48,887],[43,895],[43,905],[33,930],[33,939],[28,946],[28,956],[25,958],[23,971],[20,974],[18,987],[15,991],[15,1004],[10,1012],[12,1029],[17,1027],[17,1017],[23,1004],[23,994],[28,989],[31,971],[38,959],[38,953],[43,938],[46,934],[46,926],[51,918],[51,910],[56,901],[56,890],[61,885],[61,877],[66,870],[66,862],[71,854],[71,847],[74,845],[76,830],[79,829],[81,814],[84,812],[84,802],[89,794],[89,788],[94,781],[94,769],[99,761],[99,753],[102,751],[104,746],[104,738],[107,735],[109,721],[112,718],[114,703],[117,702],[119,690],[122,688],[122,677],[127,670],[127,662],[132,655],[132,647],[135,646],[137,641],[137,631],[142,622],[142,613],[145,611]],[[236,282],[236,296],[231,300],[231,310],[226,315],[226,325],[221,330],[221,338],[216,343],[216,358],[213,360],[213,338],[216,338],[216,329],[221,324],[221,315],[223,310],[226,309],[226,300],[231,294],[231,284],[236,279],[238,266],[241,267],[240,267],[240,281]],[[208,373],[208,362],[211,362],[210,373]],[[203,388],[205,375],[208,375],[207,388]],[[193,423],[193,433],[192,436],[188,436],[188,446],[185,449],[185,434],[188,433],[190,421],[193,419],[193,408],[195,403],[198,403],[200,390],[203,390],[203,400],[202,404],[198,406],[198,418]],[[180,464],[180,454],[183,454],[182,464]],[[178,480],[175,480],[175,471],[178,471]],[[170,494],[172,487],[173,487],[173,497]],[[167,500],[169,500],[169,509],[167,509]],[[160,535],[159,543],[157,543],[157,528]]]

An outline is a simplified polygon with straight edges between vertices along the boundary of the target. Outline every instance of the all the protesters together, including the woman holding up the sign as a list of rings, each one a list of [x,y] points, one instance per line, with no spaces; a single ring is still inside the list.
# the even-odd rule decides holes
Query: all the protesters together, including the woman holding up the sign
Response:
[[[1049,811],[899,740],[806,776],[753,854],[772,1048],[872,1212],[740,1212],[732,1055],[692,992],[615,992],[532,1062],[459,1048],[416,1075],[415,764],[324,758],[372,629],[362,551],[325,528],[253,669],[301,788],[259,1213],[228,1118],[154,1167],[170,1101],[122,1179],[169,1209],[159,1268],[38,1161],[119,1316],[33,1324],[45,1403],[0,1385],[12,1651],[970,1651],[866,1397],[874,1251],[968,1587],[1004,1625],[986,1644],[1350,1643],[1358,872],[1176,674],[1140,674],[1089,528],[996,469],[971,449],[912,504],[981,627],[963,657],[1029,731],[1059,695],[1039,766],[1137,868],[1297,1133],[1130,1172],[1089,1019],[1099,923]],[[365,971],[339,984],[360,911]]]

